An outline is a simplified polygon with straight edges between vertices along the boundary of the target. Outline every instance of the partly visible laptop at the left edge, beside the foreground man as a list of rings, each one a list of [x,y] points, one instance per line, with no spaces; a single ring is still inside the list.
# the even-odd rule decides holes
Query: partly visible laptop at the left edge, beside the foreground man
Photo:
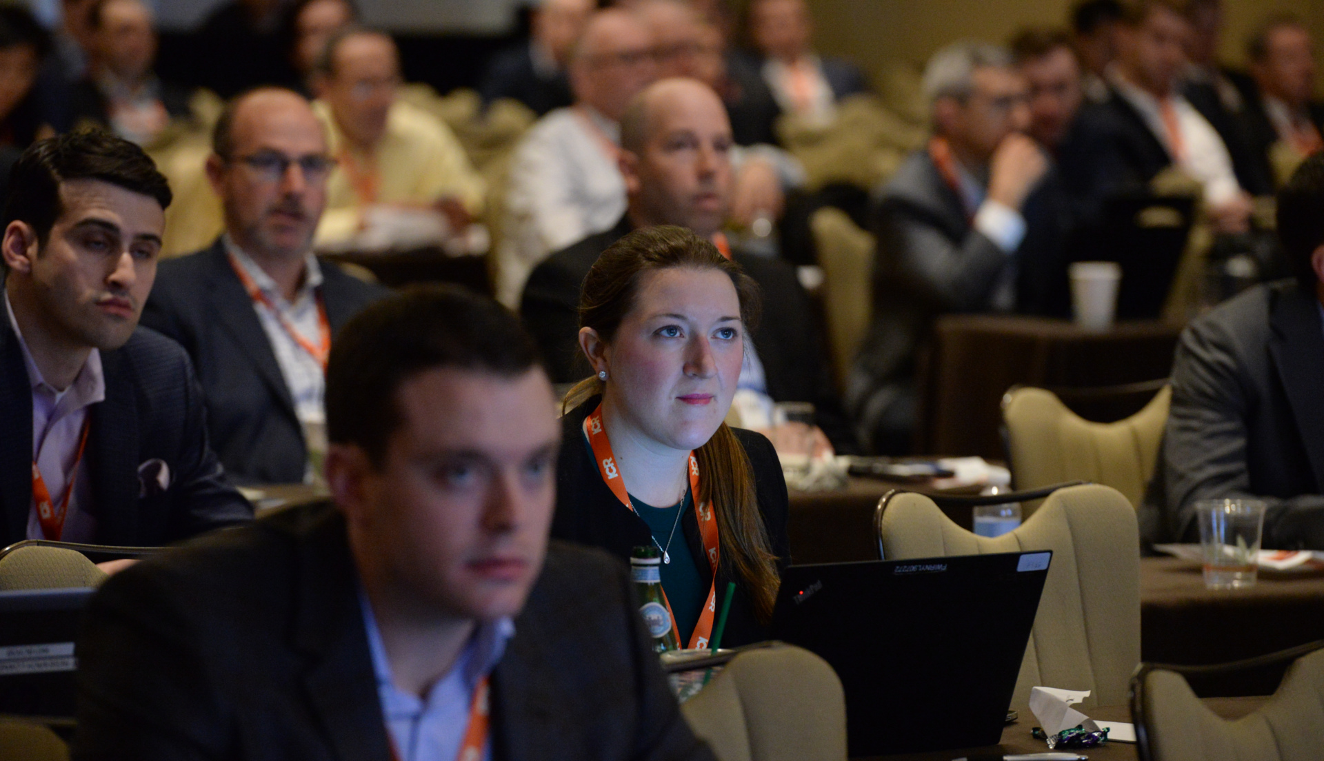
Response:
[[[0,592],[0,713],[74,715],[74,641],[94,592]]]

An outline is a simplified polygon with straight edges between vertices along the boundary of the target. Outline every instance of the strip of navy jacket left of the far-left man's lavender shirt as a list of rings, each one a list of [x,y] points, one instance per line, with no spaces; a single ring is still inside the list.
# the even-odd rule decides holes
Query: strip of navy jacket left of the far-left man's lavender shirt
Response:
[[[0,279],[0,289],[4,281]],[[3,299],[0,299],[3,300]],[[0,508],[4,541],[26,539],[32,511],[32,384],[19,336],[0,304]]]

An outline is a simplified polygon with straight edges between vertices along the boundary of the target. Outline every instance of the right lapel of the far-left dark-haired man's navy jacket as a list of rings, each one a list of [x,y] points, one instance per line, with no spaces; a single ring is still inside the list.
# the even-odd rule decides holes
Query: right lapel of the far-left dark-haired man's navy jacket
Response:
[[[119,351],[101,352],[106,401],[91,408],[87,472],[101,544],[136,544],[138,393],[132,369]]]

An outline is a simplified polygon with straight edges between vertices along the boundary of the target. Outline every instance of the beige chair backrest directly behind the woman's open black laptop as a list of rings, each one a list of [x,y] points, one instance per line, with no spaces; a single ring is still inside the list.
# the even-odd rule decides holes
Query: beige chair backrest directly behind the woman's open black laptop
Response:
[[[994,539],[956,525],[924,495],[896,494],[879,540],[888,560],[1051,549],[1013,701],[1027,703],[1035,686],[1090,690],[1086,705],[1125,700],[1140,662],[1140,553],[1136,511],[1115,488],[1061,488]]]

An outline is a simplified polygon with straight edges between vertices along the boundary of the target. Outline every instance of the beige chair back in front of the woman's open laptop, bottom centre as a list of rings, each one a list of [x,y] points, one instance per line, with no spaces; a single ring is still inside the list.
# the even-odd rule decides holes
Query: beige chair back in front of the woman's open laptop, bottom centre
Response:
[[[740,652],[681,712],[720,761],[846,758],[841,682],[800,647]]]

